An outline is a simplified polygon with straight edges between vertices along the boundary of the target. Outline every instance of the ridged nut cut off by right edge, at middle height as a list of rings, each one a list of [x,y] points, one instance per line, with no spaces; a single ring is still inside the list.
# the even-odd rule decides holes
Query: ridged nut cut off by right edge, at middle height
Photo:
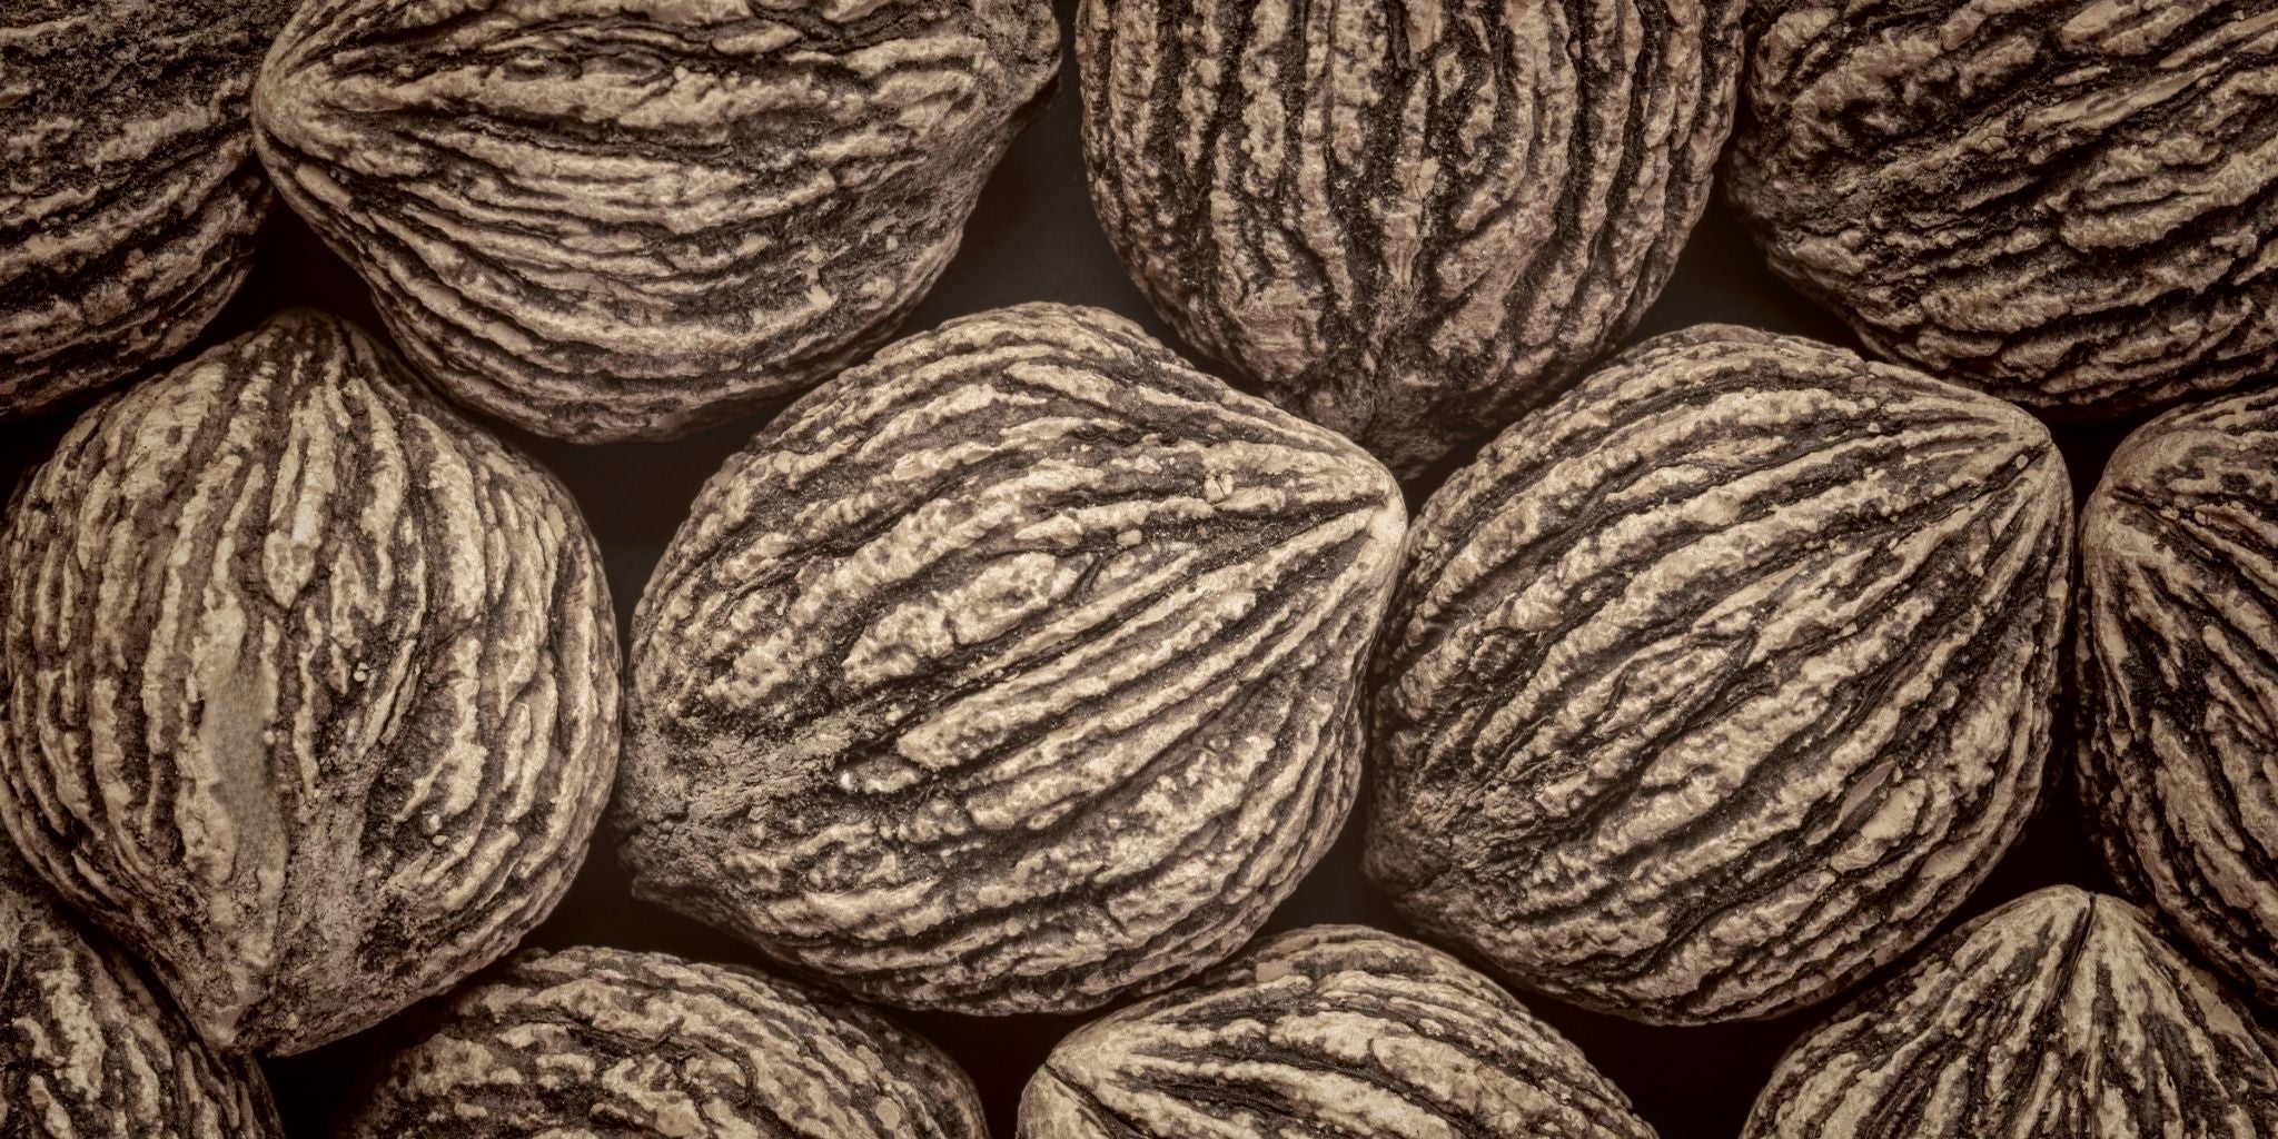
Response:
[[[2278,392],[2182,408],[2080,522],[2082,788],[2114,875],[2278,1009]]]

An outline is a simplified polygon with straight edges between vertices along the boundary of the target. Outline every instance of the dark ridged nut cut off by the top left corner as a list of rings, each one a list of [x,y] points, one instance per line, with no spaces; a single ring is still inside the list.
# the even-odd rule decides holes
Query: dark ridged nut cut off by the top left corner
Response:
[[[0,5],[0,419],[189,346],[253,262],[287,0]]]

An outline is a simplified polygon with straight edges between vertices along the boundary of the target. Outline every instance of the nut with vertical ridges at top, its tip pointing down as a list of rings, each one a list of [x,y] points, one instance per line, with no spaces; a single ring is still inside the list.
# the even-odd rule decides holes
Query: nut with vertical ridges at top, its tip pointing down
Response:
[[[1084,0],[1091,198],[1187,342],[1408,476],[1661,294],[1743,9]]]

